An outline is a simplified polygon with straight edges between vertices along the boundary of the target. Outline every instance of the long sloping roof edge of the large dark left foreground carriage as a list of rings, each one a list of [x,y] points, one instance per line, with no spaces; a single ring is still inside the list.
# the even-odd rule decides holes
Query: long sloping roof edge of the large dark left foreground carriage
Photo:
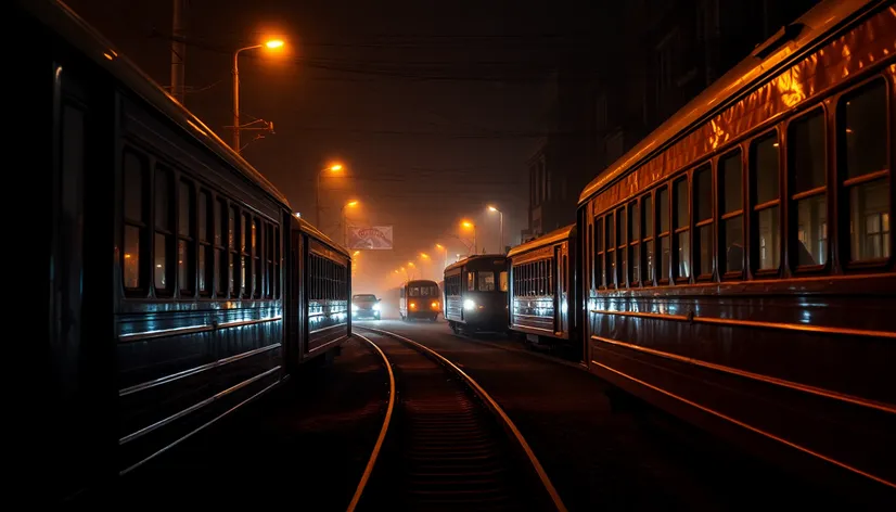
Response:
[[[238,169],[246,179],[260,187],[283,206],[290,208],[286,196],[267,178],[227,145],[205,123],[178,103],[135,63],[116,51],[108,40],[68,5],[57,0],[17,0],[16,3],[82,51],[97,65],[108,72],[158,113],[190,133],[200,144],[215,153],[231,167]]]

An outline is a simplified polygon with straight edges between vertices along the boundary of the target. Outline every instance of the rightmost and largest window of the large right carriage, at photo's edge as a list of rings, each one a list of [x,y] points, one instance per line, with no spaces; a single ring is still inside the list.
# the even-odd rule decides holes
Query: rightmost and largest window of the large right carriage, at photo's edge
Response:
[[[840,101],[837,141],[849,197],[849,259],[888,258],[892,247],[886,82],[875,80]]]

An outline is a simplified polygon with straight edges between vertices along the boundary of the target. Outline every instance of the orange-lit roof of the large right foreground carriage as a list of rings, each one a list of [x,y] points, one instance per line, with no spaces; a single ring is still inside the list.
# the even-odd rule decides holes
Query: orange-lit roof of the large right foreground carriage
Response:
[[[579,195],[578,205],[581,206],[629,169],[635,169],[662,154],[662,151],[693,128],[706,123],[713,115],[775,76],[782,66],[804,56],[816,44],[823,42],[824,35],[845,21],[885,3],[886,0],[822,0],[794,23],[782,27],[778,34],[756,47],[751,55],[682,106],[635,148],[610,164],[585,187]]]

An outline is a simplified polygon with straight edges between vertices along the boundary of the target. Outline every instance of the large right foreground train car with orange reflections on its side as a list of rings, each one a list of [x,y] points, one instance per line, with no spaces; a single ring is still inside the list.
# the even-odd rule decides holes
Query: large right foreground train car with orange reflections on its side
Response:
[[[578,208],[592,372],[754,452],[889,491],[894,41],[892,2],[820,2]]]

